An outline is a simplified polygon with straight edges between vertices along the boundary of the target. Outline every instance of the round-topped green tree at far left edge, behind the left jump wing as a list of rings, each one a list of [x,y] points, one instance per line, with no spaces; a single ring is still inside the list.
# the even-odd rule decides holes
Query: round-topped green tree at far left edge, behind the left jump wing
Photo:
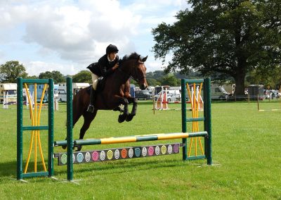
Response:
[[[27,77],[25,67],[18,61],[7,61],[0,65],[1,82],[17,82],[17,77]]]

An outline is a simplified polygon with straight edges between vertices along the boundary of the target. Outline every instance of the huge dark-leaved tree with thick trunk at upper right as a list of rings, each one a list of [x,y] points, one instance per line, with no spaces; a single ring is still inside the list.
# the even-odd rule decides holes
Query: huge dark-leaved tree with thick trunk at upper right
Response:
[[[245,75],[256,68],[280,65],[280,0],[190,0],[173,25],[152,30],[156,58],[172,59],[166,71],[190,70],[234,78],[244,94]]]

